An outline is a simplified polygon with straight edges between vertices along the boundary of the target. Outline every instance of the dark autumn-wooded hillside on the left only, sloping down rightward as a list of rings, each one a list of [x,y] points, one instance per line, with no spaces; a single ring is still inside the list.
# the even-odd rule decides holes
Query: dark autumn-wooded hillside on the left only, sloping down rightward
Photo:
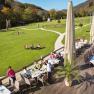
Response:
[[[6,19],[11,26],[46,20],[48,11],[33,4],[23,4],[14,0],[0,0],[0,28],[5,28]]]

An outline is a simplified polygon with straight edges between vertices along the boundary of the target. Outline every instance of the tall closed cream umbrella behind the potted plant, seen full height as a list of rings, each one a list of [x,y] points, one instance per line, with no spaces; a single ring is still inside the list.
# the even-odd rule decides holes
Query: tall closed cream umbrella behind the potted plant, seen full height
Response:
[[[65,63],[66,60],[71,64],[75,58],[75,25],[73,4],[68,0],[67,20],[66,20],[66,35],[65,35]]]

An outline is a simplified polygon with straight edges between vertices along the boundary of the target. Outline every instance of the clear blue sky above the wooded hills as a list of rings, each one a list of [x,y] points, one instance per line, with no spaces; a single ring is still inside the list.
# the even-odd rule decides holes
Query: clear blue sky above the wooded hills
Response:
[[[46,10],[50,10],[50,9],[62,10],[67,8],[68,0],[18,0],[18,1],[23,3],[35,4]],[[73,5],[75,6],[86,0],[72,0],[72,1],[73,1]]]

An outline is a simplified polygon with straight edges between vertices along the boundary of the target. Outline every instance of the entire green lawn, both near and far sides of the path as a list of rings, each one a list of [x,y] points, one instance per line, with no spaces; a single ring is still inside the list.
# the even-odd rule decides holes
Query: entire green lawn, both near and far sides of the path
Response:
[[[79,27],[80,23],[86,26]],[[90,25],[87,25],[89,23],[89,17],[75,19],[76,28],[79,27],[76,29],[76,38],[89,40]],[[15,70],[19,70],[25,65],[32,64],[41,55],[44,56],[53,51],[58,36],[51,32],[29,30],[38,28],[38,24],[40,28],[43,27],[61,33],[64,33],[66,28],[66,20],[64,19],[61,23],[57,23],[57,21],[32,23],[11,28],[8,32],[0,32],[0,76],[5,75],[9,65],[13,66]],[[17,31],[20,31],[20,35],[17,35]],[[46,48],[42,50],[26,50],[24,48],[25,44],[37,45],[38,43]]]

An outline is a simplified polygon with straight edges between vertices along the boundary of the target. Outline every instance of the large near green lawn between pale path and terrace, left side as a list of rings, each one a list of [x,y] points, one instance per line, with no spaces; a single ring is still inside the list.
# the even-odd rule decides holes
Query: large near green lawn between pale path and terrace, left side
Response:
[[[54,49],[56,34],[40,30],[19,29],[20,35],[17,35],[17,30],[0,32],[0,76],[6,73],[9,65],[18,70]],[[45,48],[41,50],[24,48],[25,44],[37,45],[38,43]]]

